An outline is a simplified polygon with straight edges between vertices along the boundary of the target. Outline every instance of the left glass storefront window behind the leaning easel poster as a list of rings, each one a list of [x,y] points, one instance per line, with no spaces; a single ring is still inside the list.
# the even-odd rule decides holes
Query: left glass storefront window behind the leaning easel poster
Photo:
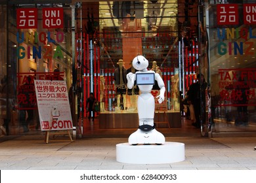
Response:
[[[7,100],[1,100],[0,125],[6,135],[40,130],[34,79],[53,79],[58,71],[72,86],[72,8],[16,3],[0,11],[1,98]]]

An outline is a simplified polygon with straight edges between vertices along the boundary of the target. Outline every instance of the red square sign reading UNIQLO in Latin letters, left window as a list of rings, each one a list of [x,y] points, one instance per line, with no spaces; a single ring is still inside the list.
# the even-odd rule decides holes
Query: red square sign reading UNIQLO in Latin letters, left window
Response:
[[[63,28],[63,8],[42,8],[43,29]]]

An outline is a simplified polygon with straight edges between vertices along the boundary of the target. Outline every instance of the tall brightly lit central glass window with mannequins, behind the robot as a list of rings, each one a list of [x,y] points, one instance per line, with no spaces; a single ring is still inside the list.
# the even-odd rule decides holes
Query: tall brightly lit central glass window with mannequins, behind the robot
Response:
[[[166,101],[161,105],[156,103],[156,111],[179,112],[179,60],[175,40],[177,5],[166,3],[164,10],[161,6],[163,4],[150,1],[139,1],[134,5],[131,2],[100,2],[101,24],[97,36],[100,42],[99,74],[104,78],[104,91],[101,91],[104,95],[100,98],[104,106],[102,112],[137,112],[139,88],[127,89],[125,75],[135,72],[131,62],[138,54],[148,59],[148,70],[159,73],[165,82]],[[161,14],[164,14],[163,18],[158,18]],[[119,80],[120,73],[123,73],[123,80]],[[153,88],[156,91],[152,91],[155,97],[158,89],[156,84]]]

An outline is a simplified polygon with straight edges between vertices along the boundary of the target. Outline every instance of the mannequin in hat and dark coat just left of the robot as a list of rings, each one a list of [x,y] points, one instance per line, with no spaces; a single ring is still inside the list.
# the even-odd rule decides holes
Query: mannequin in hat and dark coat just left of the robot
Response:
[[[117,110],[124,110],[126,105],[126,84],[127,70],[123,67],[123,59],[119,59],[117,64],[119,67],[115,69],[114,80],[117,94]]]

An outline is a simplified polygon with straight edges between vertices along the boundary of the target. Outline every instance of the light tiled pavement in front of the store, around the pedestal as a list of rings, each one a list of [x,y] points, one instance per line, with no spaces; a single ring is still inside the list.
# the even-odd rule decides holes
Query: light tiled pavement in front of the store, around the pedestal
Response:
[[[256,170],[256,137],[166,137],[185,144],[185,160],[165,164],[127,164],[116,161],[116,144],[126,138],[18,136],[0,142],[1,170]],[[171,154],[170,154],[171,156]]]

